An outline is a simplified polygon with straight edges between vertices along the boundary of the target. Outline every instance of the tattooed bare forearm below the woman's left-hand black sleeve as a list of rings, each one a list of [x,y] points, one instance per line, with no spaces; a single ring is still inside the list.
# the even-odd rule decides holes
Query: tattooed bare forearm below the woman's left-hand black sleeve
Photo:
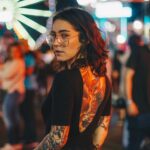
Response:
[[[69,129],[69,126],[52,126],[35,150],[60,150],[67,142]]]

